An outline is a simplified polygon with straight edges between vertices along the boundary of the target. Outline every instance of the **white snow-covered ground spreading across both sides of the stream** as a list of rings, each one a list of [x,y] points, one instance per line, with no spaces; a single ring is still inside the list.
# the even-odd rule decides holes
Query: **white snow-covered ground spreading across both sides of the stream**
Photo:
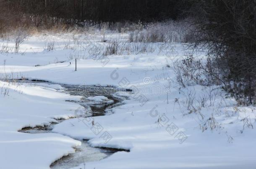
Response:
[[[81,97],[63,93],[60,85],[0,81],[0,169],[49,169],[81,144],[74,139],[130,150],[86,163],[86,169],[255,169],[255,108],[236,106],[219,86],[180,86],[172,62],[190,52],[183,44],[130,44],[127,34],[116,33],[106,33],[103,43],[98,34],[34,35],[20,45],[20,53],[0,53],[2,79],[133,89],[115,93],[129,99],[112,108],[113,114],[69,119],[85,110],[67,102]],[[118,55],[102,56],[113,39],[125,47]],[[54,50],[47,50],[49,41]],[[14,46],[0,41],[6,44]],[[195,57],[204,58],[204,53]],[[54,118],[68,119],[55,125],[54,134],[18,132]]]

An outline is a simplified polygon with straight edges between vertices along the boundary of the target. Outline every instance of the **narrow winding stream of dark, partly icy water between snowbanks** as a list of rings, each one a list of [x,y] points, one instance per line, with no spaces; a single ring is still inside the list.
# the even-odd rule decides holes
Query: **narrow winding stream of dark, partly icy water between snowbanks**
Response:
[[[22,83],[34,83],[36,86],[40,86],[40,83],[48,83],[43,81],[26,81]],[[115,97],[113,94],[116,91],[120,91],[115,87],[107,86],[76,86],[76,85],[61,85],[64,89],[61,92],[69,93],[73,96],[84,96],[85,98],[81,99],[81,101],[74,101],[79,103],[81,106],[86,108],[86,111],[89,112],[89,116],[104,116],[107,112],[111,113],[111,108],[120,105],[120,101],[124,98]],[[86,98],[91,96],[105,96],[108,99],[103,102],[91,101]],[[86,113],[87,114],[87,113]],[[86,115],[88,116],[88,114]],[[85,116],[85,117],[86,117]],[[65,121],[64,119],[56,119],[58,123]],[[40,133],[52,133],[53,127],[57,123],[52,123],[50,125],[45,126],[36,126],[34,128],[25,127],[20,130],[20,132],[30,133],[30,134],[40,134]],[[117,151],[128,151],[122,149],[106,149],[102,148],[94,148],[90,147],[86,140],[81,141],[81,146],[75,147],[75,153],[68,154],[67,156],[63,156],[61,159],[55,161],[51,164],[51,169],[69,169],[75,166],[79,166],[80,164],[86,164],[89,161],[99,161],[102,160]]]

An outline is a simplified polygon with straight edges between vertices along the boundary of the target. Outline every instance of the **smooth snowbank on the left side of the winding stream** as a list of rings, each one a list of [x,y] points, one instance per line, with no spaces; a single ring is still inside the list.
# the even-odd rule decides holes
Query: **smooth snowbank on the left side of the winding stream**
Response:
[[[0,82],[8,96],[0,94],[0,161],[1,168],[49,168],[64,154],[73,153],[80,141],[60,134],[26,134],[18,130],[55,122],[53,118],[68,119],[79,107],[65,100],[78,100],[47,88]]]

